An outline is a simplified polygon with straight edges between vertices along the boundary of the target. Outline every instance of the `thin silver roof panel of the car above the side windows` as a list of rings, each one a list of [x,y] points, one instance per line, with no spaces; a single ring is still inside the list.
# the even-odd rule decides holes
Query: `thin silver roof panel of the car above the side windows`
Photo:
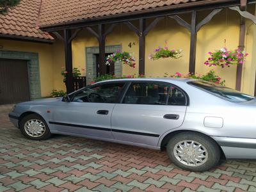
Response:
[[[195,81],[196,79],[190,79],[190,78],[175,78],[175,77],[162,77],[162,78],[120,78],[120,79],[110,79],[105,81],[100,81],[97,83],[103,83],[103,82],[115,82],[115,81],[164,81],[168,83],[174,83],[176,82],[189,82],[189,81]]]

